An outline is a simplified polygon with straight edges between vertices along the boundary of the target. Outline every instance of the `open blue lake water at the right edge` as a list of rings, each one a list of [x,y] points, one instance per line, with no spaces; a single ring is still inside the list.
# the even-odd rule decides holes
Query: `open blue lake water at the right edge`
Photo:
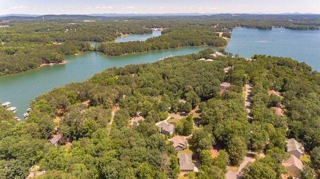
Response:
[[[290,57],[320,71],[320,30],[235,28],[225,51],[246,58],[254,54]]]

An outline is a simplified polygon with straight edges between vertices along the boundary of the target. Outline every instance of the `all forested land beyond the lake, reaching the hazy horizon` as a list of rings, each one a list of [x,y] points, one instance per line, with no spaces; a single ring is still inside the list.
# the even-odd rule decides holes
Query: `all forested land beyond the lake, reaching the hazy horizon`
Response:
[[[0,17],[0,20],[0,75],[31,70],[41,64],[61,63],[64,55],[89,50],[122,55],[181,46],[223,47],[234,27],[318,29],[320,25],[318,15],[44,15],[8,16]],[[154,28],[164,29],[162,35],[145,42],[102,43],[97,48],[88,43],[112,42],[121,35],[151,33]]]

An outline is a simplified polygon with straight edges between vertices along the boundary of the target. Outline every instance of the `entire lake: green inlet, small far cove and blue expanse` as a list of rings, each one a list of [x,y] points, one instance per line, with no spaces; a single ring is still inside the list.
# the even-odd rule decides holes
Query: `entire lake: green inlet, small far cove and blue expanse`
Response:
[[[116,42],[124,38],[125,41],[143,41],[157,35],[160,35],[160,31],[153,31],[152,34],[128,35],[117,39]],[[320,71],[319,58],[316,55],[320,48],[319,38],[319,30],[238,28],[233,30],[232,38],[225,50],[245,57],[251,57],[253,54],[289,56],[298,61],[305,61],[313,69]],[[151,63],[165,56],[197,53],[204,48],[208,47],[182,47],[113,57],[104,56],[99,52],[65,56],[65,64],[43,66],[32,71],[0,76],[0,100],[2,103],[10,101],[12,106],[17,107],[15,115],[23,119],[22,114],[28,108],[29,101],[52,88],[71,82],[82,82],[93,74],[113,66]],[[301,55],[298,56],[299,54]]]

